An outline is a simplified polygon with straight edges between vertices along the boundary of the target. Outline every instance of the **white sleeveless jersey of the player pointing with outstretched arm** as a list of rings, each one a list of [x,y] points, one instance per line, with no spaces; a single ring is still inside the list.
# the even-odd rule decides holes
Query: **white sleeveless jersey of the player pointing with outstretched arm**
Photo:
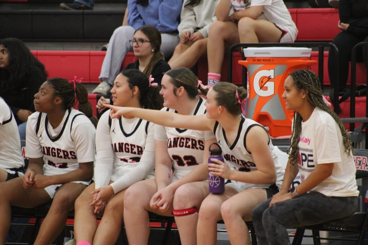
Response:
[[[222,126],[216,122],[213,131],[215,132],[216,139],[218,144],[222,149],[222,155],[224,157],[225,162],[229,165],[230,169],[237,170],[237,171],[244,171],[244,172],[251,172],[257,170],[257,167],[254,163],[254,159],[252,158],[251,152],[247,151],[245,138],[247,137],[248,131],[251,127],[254,126],[261,126],[259,123],[255,122],[254,120],[247,119],[242,117],[241,122],[238,128],[238,135],[233,143],[230,145],[227,143],[226,140],[226,133]],[[281,187],[284,170],[280,165],[277,155],[275,154],[275,150],[273,148],[271,140],[268,143],[273,161],[275,162],[276,166],[276,185]],[[247,188],[268,188],[269,184],[248,184]]]

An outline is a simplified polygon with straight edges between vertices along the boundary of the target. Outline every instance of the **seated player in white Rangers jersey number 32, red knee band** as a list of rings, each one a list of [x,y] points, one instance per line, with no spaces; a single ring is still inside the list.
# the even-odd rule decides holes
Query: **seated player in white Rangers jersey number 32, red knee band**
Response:
[[[166,111],[176,112],[177,115],[206,113],[204,105],[206,100],[198,96],[198,90],[206,94],[207,88],[189,69],[176,68],[166,72],[161,85],[160,94],[164,99],[161,113]],[[176,128],[156,125],[155,179],[140,181],[125,192],[124,223],[129,244],[148,244],[148,212],[172,216],[173,209],[179,209],[177,212],[174,210],[174,215],[180,213],[183,208],[179,205],[187,201],[185,193],[188,190],[191,190],[198,200],[195,200],[188,210],[190,212],[188,216],[175,216],[175,220],[182,244],[188,244],[193,237],[195,242],[198,217],[196,210],[209,194],[208,182],[203,181],[208,176],[206,167],[208,147],[216,140],[211,131],[184,128],[184,126]],[[194,181],[199,182],[191,183]],[[207,187],[206,191],[202,191],[204,187]],[[176,199],[177,192],[183,194],[179,199]]]

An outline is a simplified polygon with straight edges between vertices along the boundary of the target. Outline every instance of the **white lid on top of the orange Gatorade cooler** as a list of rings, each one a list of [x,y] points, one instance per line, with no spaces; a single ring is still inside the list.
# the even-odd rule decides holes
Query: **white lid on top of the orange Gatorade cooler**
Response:
[[[312,48],[249,47],[243,49],[245,57],[311,57]]]

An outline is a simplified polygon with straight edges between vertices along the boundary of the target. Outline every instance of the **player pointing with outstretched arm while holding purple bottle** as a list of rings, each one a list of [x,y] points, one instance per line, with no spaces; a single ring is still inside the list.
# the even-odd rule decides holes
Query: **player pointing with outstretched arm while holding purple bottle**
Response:
[[[272,197],[281,186],[283,169],[268,132],[241,114],[246,97],[247,91],[243,87],[218,83],[207,93],[205,115],[154,114],[153,111],[131,108],[114,108],[111,114],[112,118],[135,115],[155,118],[153,121],[160,125],[214,131],[225,163],[213,159],[217,164],[208,164],[208,170],[231,180],[231,183],[225,186],[222,194],[210,194],[202,202],[197,244],[216,244],[217,221],[220,219],[225,222],[231,244],[250,244],[244,220],[252,220],[253,208]],[[188,194],[187,202],[191,203],[193,198],[195,196]]]

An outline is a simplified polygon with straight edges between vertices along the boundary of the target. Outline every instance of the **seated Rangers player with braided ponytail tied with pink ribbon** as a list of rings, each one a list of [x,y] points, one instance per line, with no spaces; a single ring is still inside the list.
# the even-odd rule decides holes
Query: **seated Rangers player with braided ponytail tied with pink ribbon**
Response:
[[[80,111],[73,109],[75,96]],[[23,177],[0,183],[0,244],[10,227],[11,205],[33,208],[53,200],[34,243],[51,244],[93,175],[97,119],[85,87],[52,78],[41,85],[34,104],[26,127],[29,166]]]

